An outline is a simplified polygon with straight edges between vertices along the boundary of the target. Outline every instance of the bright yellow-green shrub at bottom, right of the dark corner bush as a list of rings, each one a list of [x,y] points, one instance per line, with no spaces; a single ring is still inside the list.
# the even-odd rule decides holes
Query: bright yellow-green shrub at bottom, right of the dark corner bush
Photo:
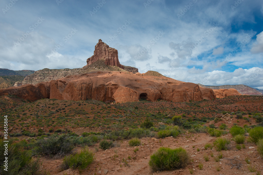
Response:
[[[68,168],[85,169],[95,160],[94,154],[88,149],[84,148],[75,155],[65,156],[63,159],[63,165]]]

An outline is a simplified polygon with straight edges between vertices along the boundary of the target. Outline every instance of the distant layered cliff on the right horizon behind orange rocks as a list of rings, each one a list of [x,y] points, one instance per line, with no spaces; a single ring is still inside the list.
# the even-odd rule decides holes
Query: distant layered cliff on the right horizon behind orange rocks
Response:
[[[254,96],[262,96],[263,94],[257,91],[254,88],[246,86],[244,84],[239,85],[222,85],[222,86],[207,86],[203,84],[198,84],[200,87],[211,88],[211,89],[236,89],[242,95],[254,95]]]

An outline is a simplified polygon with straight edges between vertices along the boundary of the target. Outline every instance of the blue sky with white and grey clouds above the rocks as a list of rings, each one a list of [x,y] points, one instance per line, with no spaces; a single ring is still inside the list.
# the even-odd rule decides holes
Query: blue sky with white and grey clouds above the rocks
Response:
[[[263,89],[262,0],[1,0],[0,68],[80,68],[99,39],[126,66]]]

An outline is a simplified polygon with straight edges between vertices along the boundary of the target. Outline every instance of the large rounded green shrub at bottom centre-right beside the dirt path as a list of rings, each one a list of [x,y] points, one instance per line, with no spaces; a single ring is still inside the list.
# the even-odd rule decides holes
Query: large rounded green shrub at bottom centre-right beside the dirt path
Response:
[[[153,171],[172,170],[186,167],[189,160],[189,154],[181,147],[176,149],[161,147],[151,155],[149,166]]]

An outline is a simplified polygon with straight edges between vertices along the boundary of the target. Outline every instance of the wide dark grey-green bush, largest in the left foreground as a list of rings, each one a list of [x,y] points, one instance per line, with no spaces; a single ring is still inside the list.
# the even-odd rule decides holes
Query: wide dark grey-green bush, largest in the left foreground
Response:
[[[35,144],[34,155],[51,157],[57,154],[60,156],[67,155],[74,148],[73,139],[66,134],[60,136],[53,134],[47,140],[39,139]]]

